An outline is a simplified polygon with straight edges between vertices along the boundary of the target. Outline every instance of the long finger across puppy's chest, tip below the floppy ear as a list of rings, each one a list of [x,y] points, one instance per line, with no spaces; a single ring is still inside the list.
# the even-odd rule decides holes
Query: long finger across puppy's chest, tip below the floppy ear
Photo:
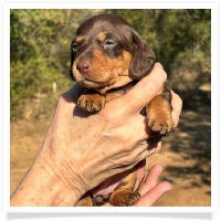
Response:
[[[128,113],[137,113],[157,94],[167,78],[161,64],[156,63],[152,71],[139,81],[127,94],[120,97],[120,108]]]

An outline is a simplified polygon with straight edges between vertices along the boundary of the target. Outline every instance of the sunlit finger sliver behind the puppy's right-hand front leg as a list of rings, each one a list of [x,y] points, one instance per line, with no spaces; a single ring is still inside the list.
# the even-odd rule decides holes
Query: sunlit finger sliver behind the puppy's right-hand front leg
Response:
[[[182,99],[179,97],[179,95],[177,95],[175,92],[171,91],[171,95],[172,95],[172,101],[171,101],[171,105],[172,105],[172,119],[175,122],[175,126],[177,127],[178,122],[179,122],[179,116],[182,109]]]

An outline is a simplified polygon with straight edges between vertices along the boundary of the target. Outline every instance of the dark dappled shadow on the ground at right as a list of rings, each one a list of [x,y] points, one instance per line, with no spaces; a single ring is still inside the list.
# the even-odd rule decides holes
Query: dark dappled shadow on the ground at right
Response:
[[[182,96],[182,94],[181,94]],[[167,167],[167,180],[189,180],[200,187],[211,182],[211,105],[210,92],[189,93],[183,99],[183,110],[175,133],[165,138],[169,150],[180,156],[179,164]]]

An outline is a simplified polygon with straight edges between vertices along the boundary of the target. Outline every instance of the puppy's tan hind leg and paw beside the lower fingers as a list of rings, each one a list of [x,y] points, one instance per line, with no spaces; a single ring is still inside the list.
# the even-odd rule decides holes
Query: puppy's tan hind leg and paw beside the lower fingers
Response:
[[[109,203],[115,207],[129,207],[137,202],[140,194],[134,191],[136,172],[130,172],[110,194]]]

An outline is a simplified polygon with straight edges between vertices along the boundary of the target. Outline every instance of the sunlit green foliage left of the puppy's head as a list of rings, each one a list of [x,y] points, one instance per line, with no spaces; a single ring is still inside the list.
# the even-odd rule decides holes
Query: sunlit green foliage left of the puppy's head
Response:
[[[50,94],[53,82],[57,83],[57,91],[69,88],[71,40],[81,20],[92,12],[51,9],[10,11],[12,120],[22,115],[28,98],[41,93]]]

